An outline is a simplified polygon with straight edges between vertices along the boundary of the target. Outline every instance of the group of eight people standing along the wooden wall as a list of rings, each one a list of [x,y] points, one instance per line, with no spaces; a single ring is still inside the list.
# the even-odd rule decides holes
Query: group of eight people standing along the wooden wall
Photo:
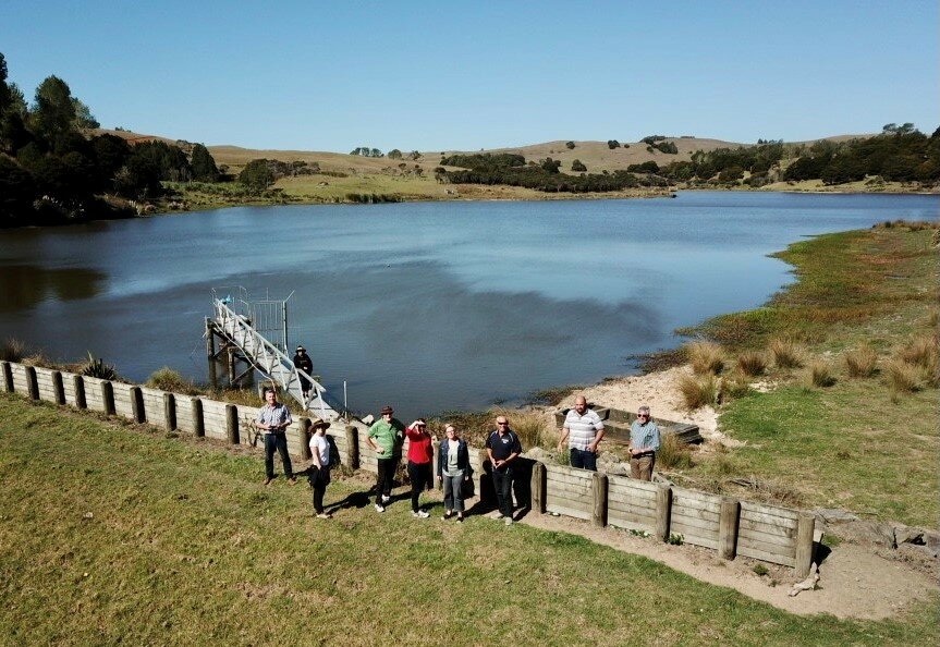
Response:
[[[394,410],[384,406],[381,418],[370,427],[366,442],[376,453],[376,512],[384,512],[391,502],[391,491],[395,467],[400,461],[399,449],[408,440],[407,474],[411,480],[412,514],[418,518],[427,518],[430,513],[420,506],[420,495],[430,489],[434,478],[443,487],[444,513],[442,518],[456,517],[463,522],[466,514],[464,493],[466,485],[473,476],[467,443],[457,432],[456,427],[445,427],[445,439],[438,448],[437,474],[434,474],[434,437],[428,431],[427,422],[417,418],[405,427],[393,417]],[[274,478],[274,452],[277,451],[284,465],[284,476],[293,485],[297,481],[288,453],[285,430],[292,424],[291,412],[277,400],[273,389],[265,391],[265,406],[258,411],[255,425],[261,430],[265,440],[265,485]],[[310,488],[314,492],[314,511],[319,518],[330,518],[323,508],[323,496],[330,483],[330,443],[326,431],[330,424],[320,418],[314,418],[310,425],[310,457],[308,469]],[[588,408],[583,395],[575,399],[562,424],[558,449],[563,450],[567,441],[572,467],[597,471],[598,445],[603,439],[603,420]],[[630,428],[630,471],[633,478],[650,480],[656,464],[656,452],[661,442],[659,427],[650,418],[649,407],[640,406],[636,419]],[[498,518],[506,525],[513,523],[512,484],[514,477],[513,462],[522,454],[522,443],[518,436],[510,428],[509,418],[500,415],[496,418],[496,429],[486,440],[486,451],[491,465],[493,490],[496,491]]]

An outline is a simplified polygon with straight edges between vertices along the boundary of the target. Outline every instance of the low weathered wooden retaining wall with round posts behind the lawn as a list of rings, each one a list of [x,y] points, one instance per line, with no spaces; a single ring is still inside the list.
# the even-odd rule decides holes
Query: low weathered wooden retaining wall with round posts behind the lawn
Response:
[[[3,390],[34,400],[84,406],[230,443],[247,445],[253,440],[251,422],[258,407],[13,362],[2,362],[0,368]],[[308,417],[296,417],[286,432],[288,451],[301,460],[309,459],[309,424]],[[331,449],[342,464],[375,473],[376,454],[366,442],[368,428],[358,422],[337,422],[327,430]],[[260,449],[261,442],[256,447]],[[402,454],[406,452],[407,442]],[[492,500],[486,451],[472,448],[469,457],[477,496]],[[546,465],[522,456],[514,462],[514,472],[515,501],[535,513],[644,530],[662,541],[681,536],[683,542],[716,550],[724,559],[742,554],[783,564],[795,569],[798,577],[809,572],[815,530],[811,514],[626,476]]]

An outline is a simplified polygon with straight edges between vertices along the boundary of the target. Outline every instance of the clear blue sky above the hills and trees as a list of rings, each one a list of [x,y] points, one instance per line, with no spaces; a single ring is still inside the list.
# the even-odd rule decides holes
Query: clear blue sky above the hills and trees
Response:
[[[940,124],[940,3],[0,0],[32,98],[106,127],[347,152]]]

